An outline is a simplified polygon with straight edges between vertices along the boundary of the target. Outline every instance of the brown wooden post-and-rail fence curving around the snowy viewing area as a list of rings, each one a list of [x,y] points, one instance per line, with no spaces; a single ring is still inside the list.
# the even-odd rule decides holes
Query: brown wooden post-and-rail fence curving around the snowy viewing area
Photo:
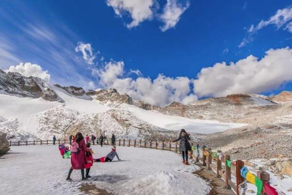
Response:
[[[69,140],[58,139],[55,144],[69,143]],[[151,148],[159,150],[167,150],[176,153],[179,152],[179,143],[171,141],[158,141],[158,140],[130,140],[130,139],[118,139],[116,140],[117,146],[125,147],[140,147],[140,148]],[[33,140],[33,141],[10,141],[10,146],[22,146],[22,145],[48,145],[53,144],[53,140]],[[110,145],[109,139],[104,140],[105,145]],[[193,142],[191,142],[193,146]],[[206,166],[208,170],[212,170],[217,174],[217,177],[222,178],[225,181],[225,188],[232,189],[236,195],[239,193],[239,184],[244,181],[244,178],[240,174],[241,168],[244,166],[244,162],[241,160],[230,160],[230,155],[224,155],[221,151],[212,151],[211,148],[202,148],[201,157],[194,159],[196,162],[202,161],[202,165]],[[193,151],[189,151],[190,158],[193,158]],[[226,165],[229,162],[229,165]],[[232,176],[234,178],[232,179]],[[269,183],[270,175],[264,171],[258,171],[257,177]],[[233,180],[233,181],[232,181]],[[265,195],[265,194],[264,194]]]

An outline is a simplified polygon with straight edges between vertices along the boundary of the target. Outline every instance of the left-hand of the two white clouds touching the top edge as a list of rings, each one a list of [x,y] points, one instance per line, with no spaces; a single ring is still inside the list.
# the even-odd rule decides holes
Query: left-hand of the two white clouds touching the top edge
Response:
[[[133,28],[144,20],[152,19],[152,7],[155,2],[155,0],[107,0],[107,5],[112,7],[119,17],[130,14],[132,21],[127,27]]]

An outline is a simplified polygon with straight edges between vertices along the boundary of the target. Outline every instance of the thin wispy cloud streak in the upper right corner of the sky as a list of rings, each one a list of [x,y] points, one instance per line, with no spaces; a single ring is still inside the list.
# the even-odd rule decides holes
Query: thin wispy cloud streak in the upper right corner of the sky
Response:
[[[268,20],[261,20],[257,25],[252,24],[248,29],[248,35],[239,44],[239,48],[245,46],[247,43],[253,41],[253,35],[260,29],[275,25],[277,30],[282,28],[292,33],[292,6],[278,9],[277,12]]]

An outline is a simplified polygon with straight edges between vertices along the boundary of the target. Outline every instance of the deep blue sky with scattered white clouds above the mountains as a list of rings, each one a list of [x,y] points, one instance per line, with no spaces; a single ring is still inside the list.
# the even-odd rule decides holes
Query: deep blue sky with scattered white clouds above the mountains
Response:
[[[29,62],[47,71],[52,83],[114,87],[157,105],[292,91],[292,78],[286,75],[292,73],[287,48],[292,46],[291,1],[127,1],[1,0],[0,67]],[[82,48],[92,55],[83,58]],[[267,54],[271,49],[279,51]],[[258,63],[247,59],[250,55]],[[285,65],[278,69],[283,55]],[[84,60],[90,57],[92,62]],[[277,73],[266,78],[264,69]]]

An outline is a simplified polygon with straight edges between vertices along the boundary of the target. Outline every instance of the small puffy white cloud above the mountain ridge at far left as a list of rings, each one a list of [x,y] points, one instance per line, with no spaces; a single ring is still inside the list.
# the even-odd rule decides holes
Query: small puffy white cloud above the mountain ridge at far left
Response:
[[[19,63],[16,66],[10,66],[7,70],[4,70],[5,72],[16,72],[20,73],[21,75],[25,77],[38,77],[43,79],[46,82],[50,81],[50,75],[48,74],[48,71],[43,71],[41,66],[37,64],[32,64],[30,62],[26,63]]]

